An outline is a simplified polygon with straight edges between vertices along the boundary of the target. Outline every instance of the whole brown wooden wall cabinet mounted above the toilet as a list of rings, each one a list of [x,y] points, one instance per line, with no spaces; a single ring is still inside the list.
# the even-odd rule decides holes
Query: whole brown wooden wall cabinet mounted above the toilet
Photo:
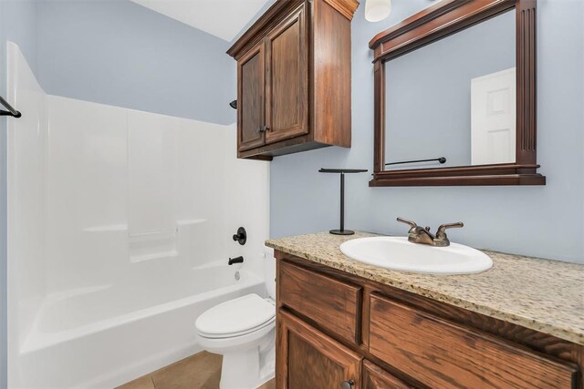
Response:
[[[356,0],[278,0],[227,54],[237,61],[237,157],[350,147]]]

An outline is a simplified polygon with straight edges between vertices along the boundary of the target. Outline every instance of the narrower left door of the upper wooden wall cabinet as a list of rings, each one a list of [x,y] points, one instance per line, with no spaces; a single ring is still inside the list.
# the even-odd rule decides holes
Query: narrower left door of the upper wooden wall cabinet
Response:
[[[237,63],[237,149],[265,143],[264,45],[255,46]]]

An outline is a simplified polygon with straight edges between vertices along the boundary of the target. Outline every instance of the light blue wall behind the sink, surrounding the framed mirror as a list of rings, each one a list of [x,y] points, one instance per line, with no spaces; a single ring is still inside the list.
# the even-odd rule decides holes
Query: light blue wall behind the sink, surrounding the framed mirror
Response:
[[[429,5],[393,0],[393,13],[368,23],[363,2],[353,20],[352,148],[323,148],[271,163],[271,236],[338,226],[339,178],[319,168],[372,168],[372,36]],[[435,227],[463,220],[454,241],[566,261],[584,261],[584,2],[539,0],[537,12],[538,162],[543,187],[369,188],[350,175],[347,228],[405,233],[397,216]],[[418,115],[412,106],[412,115]]]

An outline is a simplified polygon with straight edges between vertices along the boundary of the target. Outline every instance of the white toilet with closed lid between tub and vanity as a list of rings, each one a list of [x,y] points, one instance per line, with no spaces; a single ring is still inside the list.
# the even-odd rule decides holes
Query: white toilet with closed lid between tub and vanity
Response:
[[[253,389],[274,377],[276,365],[276,261],[265,250],[266,291],[222,302],[195,322],[199,343],[223,354],[220,389]]]

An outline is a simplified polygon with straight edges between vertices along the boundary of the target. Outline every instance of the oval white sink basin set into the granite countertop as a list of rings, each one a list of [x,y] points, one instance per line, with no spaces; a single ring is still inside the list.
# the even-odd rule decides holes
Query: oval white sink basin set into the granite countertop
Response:
[[[340,251],[350,259],[396,271],[429,274],[470,274],[486,271],[493,261],[482,251],[462,244],[433,247],[405,237],[372,237],[346,241]]]

